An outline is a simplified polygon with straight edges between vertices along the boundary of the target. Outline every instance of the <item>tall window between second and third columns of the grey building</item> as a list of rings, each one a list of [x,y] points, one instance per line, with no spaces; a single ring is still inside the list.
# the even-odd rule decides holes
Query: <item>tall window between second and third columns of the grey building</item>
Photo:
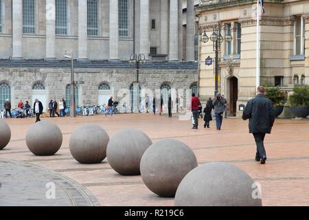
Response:
[[[55,0],[56,3],[56,34],[67,34],[67,0]]]

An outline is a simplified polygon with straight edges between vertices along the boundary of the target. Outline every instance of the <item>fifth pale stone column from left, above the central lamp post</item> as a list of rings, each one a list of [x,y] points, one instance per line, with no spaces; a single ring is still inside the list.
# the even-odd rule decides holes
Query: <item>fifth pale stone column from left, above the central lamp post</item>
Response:
[[[140,39],[139,52],[145,55],[146,60],[149,59],[150,39],[149,39],[149,0],[142,0],[140,3]]]

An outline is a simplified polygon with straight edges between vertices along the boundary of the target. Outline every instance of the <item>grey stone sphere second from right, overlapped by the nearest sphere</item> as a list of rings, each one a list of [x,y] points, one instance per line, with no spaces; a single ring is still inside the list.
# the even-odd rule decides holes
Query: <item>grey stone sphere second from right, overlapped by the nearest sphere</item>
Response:
[[[174,197],[187,173],[197,166],[192,149],[178,140],[152,144],[141,158],[144,184],[161,197]]]

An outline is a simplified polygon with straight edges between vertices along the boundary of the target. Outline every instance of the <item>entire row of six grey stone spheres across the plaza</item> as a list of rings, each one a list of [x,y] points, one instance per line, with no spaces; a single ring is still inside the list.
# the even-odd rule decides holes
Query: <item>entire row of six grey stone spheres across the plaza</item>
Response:
[[[10,127],[0,120],[0,149],[10,137]],[[27,131],[26,144],[34,155],[54,155],[62,133],[52,122],[37,122]],[[225,162],[198,166],[192,149],[178,140],[152,143],[136,129],[123,129],[110,139],[102,127],[84,125],[71,134],[69,150],[81,164],[107,157],[119,175],[141,175],[155,194],[175,197],[175,206],[262,206],[260,189],[247,173]]]

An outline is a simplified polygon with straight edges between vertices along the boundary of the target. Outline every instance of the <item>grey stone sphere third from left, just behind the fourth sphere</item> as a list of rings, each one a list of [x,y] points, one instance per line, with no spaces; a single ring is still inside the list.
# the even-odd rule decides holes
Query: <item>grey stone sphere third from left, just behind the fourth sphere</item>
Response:
[[[71,155],[81,164],[98,164],[106,157],[109,136],[97,125],[84,125],[76,129],[69,140]]]

